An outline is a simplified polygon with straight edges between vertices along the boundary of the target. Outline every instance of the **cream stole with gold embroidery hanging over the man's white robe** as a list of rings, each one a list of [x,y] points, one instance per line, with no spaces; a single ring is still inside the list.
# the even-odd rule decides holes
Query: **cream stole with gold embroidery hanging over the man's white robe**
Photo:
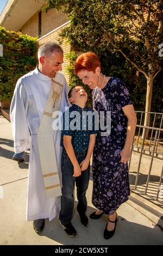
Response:
[[[53,116],[54,111],[60,110],[63,85],[52,79],[51,89],[46,103],[45,111],[39,131],[37,133],[37,143],[39,147],[40,163],[45,185],[46,197],[53,198],[61,195],[60,180],[58,174],[57,159],[55,154],[55,141],[52,124],[58,116]]]

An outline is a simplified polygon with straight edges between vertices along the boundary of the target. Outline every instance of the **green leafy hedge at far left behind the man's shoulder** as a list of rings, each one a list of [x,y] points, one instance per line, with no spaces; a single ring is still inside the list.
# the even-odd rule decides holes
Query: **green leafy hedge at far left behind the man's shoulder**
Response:
[[[33,70],[36,65],[37,38],[0,27],[0,98],[11,100],[18,78]]]

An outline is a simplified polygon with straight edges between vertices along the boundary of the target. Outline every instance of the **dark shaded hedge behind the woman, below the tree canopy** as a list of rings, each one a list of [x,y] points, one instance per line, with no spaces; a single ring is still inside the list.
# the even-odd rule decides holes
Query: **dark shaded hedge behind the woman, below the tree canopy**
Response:
[[[83,86],[88,94],[87,105],[92,106],[91,89],[88,86],[84,86],[82,80],[77,75],[74,75],[74,62],[80,54],[71,51],[66,55],[66,58],[70,61],[70,65],[67,66],[67,72],[70,76],[69,86],[70,88],[75,85]],[[100,54],[99,59],[102,64],[103,74],[108,76],[115,76],[120,78],[129,90],[131,99],[133,101],[136,111],[144,111],[146,106],[146,78],[140,72],[134,69],[127,60],[121,56],[120,53],[105,52],[106,56]],[[163,84],[163,72],[160,72],[154,81],[154,93],[152,98],[152,112],[161,112],[161,93]]]

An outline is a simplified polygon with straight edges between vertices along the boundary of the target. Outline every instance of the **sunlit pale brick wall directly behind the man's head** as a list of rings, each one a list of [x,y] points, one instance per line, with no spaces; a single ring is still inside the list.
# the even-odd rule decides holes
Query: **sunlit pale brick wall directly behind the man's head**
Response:
[[[66,25],[68,26],[68,25]],[[37,42],[39,45],[43,44],[44,42],[49,42],[49,41],[55,41],[58,42],[59,39],[59,33],[61,32],[61,28],[54,29],[51,33],[48,33],[47,35],[43,36],[42,38],[39,38]],[[68,44],[66,41],[64,41],[61,45],[63,51],[64,51],[64,63],[62,64],[62,71],[61,73],[65,76],[67,83],[69,82],[69,76],[66,72],[66,66],[69,64],[68,60],[66,59],[66,53],[70,52],[70,44]]]

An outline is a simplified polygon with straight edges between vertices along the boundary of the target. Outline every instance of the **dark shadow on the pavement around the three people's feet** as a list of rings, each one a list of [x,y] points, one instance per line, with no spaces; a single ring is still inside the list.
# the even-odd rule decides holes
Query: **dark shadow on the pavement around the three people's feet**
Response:
[[[94,208],[87,207],[87,216],[95,211]],[[154,228],[145,225],[129,222],[125,218],[118,216],[116,233],[109,240],[103,238],[107,216],[102,216],[99,220],[89,218],[89,226],[82,227],[79,223],[77,212],[74,214],[72,224],[77,230],[77,235],[68,237],[61,227],[58,217],[51,222],[46,219],[45,228],[40,236],[46,236],[62,245],[162,245],[162,241],[157,238],[158,225]]]

